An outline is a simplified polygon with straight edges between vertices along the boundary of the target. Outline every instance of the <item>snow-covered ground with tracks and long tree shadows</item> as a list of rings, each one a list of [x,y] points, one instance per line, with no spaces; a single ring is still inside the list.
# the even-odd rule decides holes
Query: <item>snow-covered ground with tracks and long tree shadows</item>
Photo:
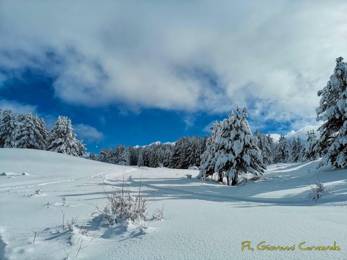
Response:
[[[65,259],[66,253],[75,258],[81,240],[87,247],[79,259],[346,259],[347,171],[316,170],[317,165],[275,164],[266,170],[267,180],[228,187],[201,183],[197,170],[119,166],[1,148],[0,174],[6,174],[0,176],[0,259]],[[317,180],[315,172],[333,193],[313,202],[305,181]],[[124,223],[101,228],[90,221],[91,204],[106,203],[104,190],[115,190],[124,178],[138,192],[141,174],[141,192],[152,192],[149,215],[164,205],[163,221],[148,221],[145,234]],[[43,193],[33,195],[41,187]],[[78,216],[70,241],[62,212],[64,223]],[[90,234],[81,236],[77,227],[84,222]],[[243,241],[251,241],[254,251],[242,251]],[[295,245],[295,250],[257,250],[262,241]],[[301,251],[304,241],[305,247],[336,241],[341,250]]]

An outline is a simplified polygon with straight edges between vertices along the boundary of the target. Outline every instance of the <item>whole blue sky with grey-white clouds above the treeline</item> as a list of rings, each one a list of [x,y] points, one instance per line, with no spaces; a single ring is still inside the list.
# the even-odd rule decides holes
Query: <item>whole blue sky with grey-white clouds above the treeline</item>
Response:
[[[253,132],[304,137],[347,57],[346,13],[344,1],[1,1],[0,106],[50,126],[66,115],[93,151],[204,135],[237,105]]]

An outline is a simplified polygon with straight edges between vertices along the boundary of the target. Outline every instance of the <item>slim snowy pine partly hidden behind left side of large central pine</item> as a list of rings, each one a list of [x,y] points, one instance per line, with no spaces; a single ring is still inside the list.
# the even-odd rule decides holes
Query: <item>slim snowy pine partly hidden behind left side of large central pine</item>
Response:
[[[204,178],[206,176],[210,176],[214,173],[214,166],[216,162],[215,153],[217,152],[217,144],[216,144],[216,137],[219,134],[220,131],[220,123],[215,121],[211,129],[210,136],[206,139],[205,143],[205,150],[204,153],[201,155],[201,165],[199,166],[199,175],[198,179]],[[219,174],[219,180],[220,182],[223,181],[222,179],[222,173]]]

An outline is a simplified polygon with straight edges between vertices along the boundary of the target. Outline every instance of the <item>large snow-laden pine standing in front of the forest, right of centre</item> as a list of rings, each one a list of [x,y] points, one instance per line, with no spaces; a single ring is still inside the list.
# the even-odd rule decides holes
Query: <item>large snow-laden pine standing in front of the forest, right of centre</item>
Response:
[[[227,177],[228,185],[236,185],[241,173],[262,175],[266,166],[257,146],[257,138],[252,135],[246,117],[247,108],[240,112],[237,106],[236,113],[231,112],[229,118],[221,123],[221,131],[215,142],[215,172],[222,172]]]

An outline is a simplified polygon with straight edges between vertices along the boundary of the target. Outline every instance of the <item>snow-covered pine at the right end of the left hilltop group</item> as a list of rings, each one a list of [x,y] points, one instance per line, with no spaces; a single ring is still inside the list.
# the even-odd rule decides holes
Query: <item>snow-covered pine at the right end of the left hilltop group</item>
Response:
[[[50,132],[47,150],[79,156],[81,148],[78,146],[78,140],[76,141],[76,134],[73,130],[71,120],[66,116],[59,116]]]

